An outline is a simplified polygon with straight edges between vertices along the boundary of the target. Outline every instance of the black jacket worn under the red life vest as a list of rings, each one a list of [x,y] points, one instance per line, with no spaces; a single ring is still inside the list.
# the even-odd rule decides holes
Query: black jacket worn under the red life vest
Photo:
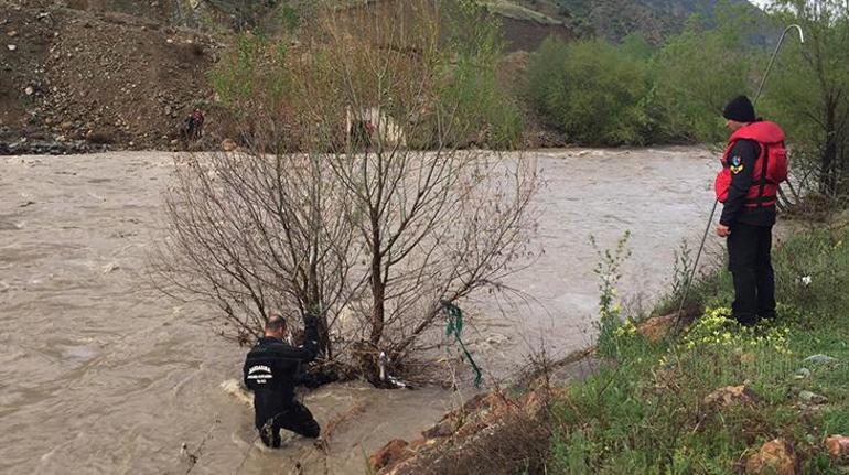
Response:
[[[722,207],[722,216],[719,223],[730,228],[734,224],[742,223],[753,226],[772,226],[775,224],[775,205],[764,207],[746,207],[745,195],[752,186],[757,156],[761,154],[761,145],[754,140],[739,140],[729,153],[729,160],[740,158],[742,169],[731,174],[731,187],[728,190],[728,198]]]

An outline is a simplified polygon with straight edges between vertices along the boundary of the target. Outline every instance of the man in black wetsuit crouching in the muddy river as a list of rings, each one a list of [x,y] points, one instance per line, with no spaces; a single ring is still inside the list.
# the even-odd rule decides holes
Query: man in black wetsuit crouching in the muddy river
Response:
[[[321,430],[310,410],[294,399],[301,365],[315,359],[319,353],[315,317],[308,315],[304,325],[304,344],[295,347],[283,341],[286,320],[269,315],[265,336],[245,359],[245,386],[254,391],[255,424],[262,442],[270,447],[280,447],[280,429],[311,439],[318,438]]]

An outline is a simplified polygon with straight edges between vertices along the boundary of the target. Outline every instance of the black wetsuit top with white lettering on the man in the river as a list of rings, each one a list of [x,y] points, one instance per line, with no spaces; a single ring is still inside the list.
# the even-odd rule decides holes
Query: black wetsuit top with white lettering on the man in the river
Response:
[[[243,368],[245,386],[254,391],[256,425],[295,404],[294,387],[301,365],[315,359],[319,333],[314,322],[305,327],[305,342],[292,346],[282,339],[262,337],[250,349]]]

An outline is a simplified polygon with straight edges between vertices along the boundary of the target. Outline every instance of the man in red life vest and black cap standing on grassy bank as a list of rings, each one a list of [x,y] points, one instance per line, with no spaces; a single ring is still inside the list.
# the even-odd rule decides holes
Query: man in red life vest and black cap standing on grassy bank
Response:
[[[732,134],[716,182],[717,199],[724,204],[717,235],[728,241],[733,317],[752,326],[775,316],[772,227],[787,153],[782,129],[759,120],[748,97],[731,100],[722,116]]]

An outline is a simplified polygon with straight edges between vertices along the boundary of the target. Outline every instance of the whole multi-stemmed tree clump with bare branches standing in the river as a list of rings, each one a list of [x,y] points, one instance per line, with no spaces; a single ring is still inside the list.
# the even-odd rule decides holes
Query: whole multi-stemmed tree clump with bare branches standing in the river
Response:
[[[243,335],[270,309],[320,309],[329,350],[375,380],[377,356],[401,361],[442,322],[443,301],[514,271],[531,252],[536,165],[460,150],[488,125],[465,114],[444,17],[488,17],[453,3],[323,11],[287,55],[291,122],[269,114],[245,153],[178,163],[169,282],[215,302]],[[492,63],[486,41],[466,60]],[[282,152],[278,128],[295,128],[303,153]]]

